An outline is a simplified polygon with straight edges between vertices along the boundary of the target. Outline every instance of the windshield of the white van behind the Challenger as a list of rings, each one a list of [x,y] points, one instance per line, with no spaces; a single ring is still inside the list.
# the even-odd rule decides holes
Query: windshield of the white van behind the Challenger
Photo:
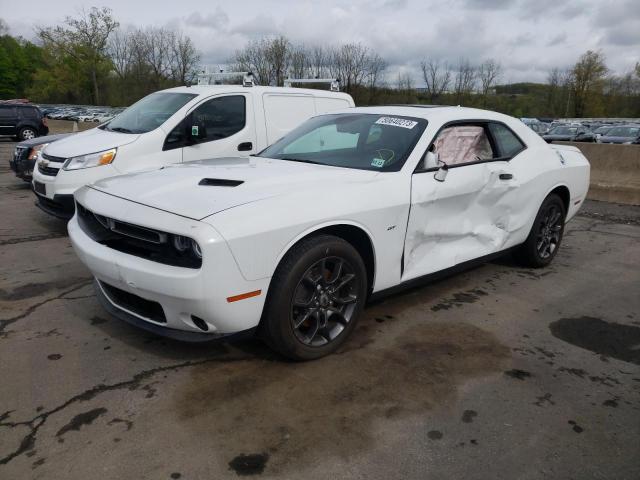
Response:
[[[196,96],[192,93],[152,93],[131,105],[102,128],[122,133],[150,132]]]

